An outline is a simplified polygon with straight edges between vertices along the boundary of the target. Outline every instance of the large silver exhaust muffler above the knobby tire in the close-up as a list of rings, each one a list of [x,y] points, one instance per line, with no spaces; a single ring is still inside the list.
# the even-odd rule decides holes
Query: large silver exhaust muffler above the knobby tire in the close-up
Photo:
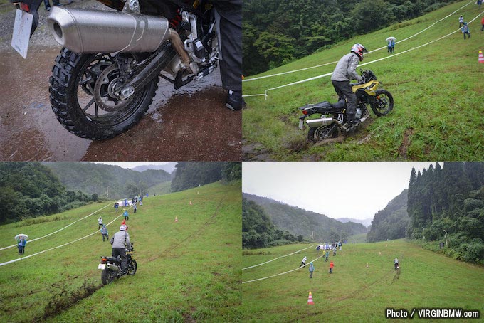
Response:
[[[48,28],[75,53],[152,52],[169,37],[167,18],[53,6]]]

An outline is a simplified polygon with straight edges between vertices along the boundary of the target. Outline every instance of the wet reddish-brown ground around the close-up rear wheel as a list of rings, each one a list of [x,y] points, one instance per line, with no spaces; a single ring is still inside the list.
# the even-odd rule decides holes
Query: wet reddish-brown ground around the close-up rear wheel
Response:
[[[92,0],[70,6],[105,7]],[[70,134],[48,99],[48,78],[61,51],[46,30],[48,12],[41,5],[39,28],[23,59],[10,46],[14,8],[0,9],[0,160],[241,160],[241,112],[225,107],[219,70],[179,90],[160,81],[147,114],[115,138],[91,141]]]

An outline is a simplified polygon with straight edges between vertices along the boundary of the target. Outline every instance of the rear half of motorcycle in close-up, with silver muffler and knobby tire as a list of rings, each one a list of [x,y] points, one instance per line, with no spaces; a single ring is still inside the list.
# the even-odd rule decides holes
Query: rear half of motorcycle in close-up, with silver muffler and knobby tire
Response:
[[[28,46],[21,28],[35,31],[43,0],[10,1],[24,17],[14,26],[24,35],[19,46],[12,42],[17,49]],[[52,109],[65,129],[88,139],[125,132],[148,110],[160,77],[181,88],[215,70],[219,53],[214,9],[204,0],[98,1],[115,10],[54,6],[48,16],[63,46],[49,80]]]

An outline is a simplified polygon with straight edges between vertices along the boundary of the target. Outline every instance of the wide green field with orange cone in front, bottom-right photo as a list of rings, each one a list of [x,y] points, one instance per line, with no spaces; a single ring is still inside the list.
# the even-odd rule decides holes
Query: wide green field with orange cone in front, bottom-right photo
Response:
[[[243,267],[302,248],[305,245],[244,252]],[[298,268],[303,255],[307,255],[309,263],[320,254],[311,248],[243,270],[242,281]],[[395,257],[400,260],[399,274],[393,269]],[[329,262],[320,258],[314,262],[312,279],[308,269],[301,268],[244,283],[244,322],[385,322],[388,307],[407,311],[421,307],[475,309],[480,310],[482,318],[484,268],[460,263],[404,240],[344,245],[335,257],[330,254],[330,260],[335,263],[331,275]],[[309,292],[315,305],[307,304]]]

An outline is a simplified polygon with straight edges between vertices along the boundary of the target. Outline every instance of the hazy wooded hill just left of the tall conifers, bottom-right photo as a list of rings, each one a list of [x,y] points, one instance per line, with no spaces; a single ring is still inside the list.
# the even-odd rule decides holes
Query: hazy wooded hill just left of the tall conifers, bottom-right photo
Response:
[[[372,227],[367,233],[368,242],[405,238],[406,227],[410,223],[409,213],[406,211],[408,191],[404,189],[383,210],[375,214]]]

